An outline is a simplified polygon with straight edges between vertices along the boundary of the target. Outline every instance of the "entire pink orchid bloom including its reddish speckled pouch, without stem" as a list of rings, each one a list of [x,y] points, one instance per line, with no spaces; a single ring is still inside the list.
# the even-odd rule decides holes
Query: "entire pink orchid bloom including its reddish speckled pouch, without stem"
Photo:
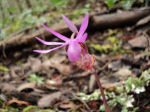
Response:
[[[46,30],[48,30],[53,35],[55,35],[56,37],[60,38],[61,40],[65,42],[64,43],[63,42],[47,42],[38,37],[35,37],[37,40],[39,40],[41,43],[45,45],[59,45],[59,46],[49,49],[49,50],[34,50],[34,52],[49,53],[61,47],[67,46],[67,55],[71,62],[75,62],[80,68],[91,69],[93,67],[94,58],[88,53],[88,50],[83,44],[87,38],[87,33],[85,33],[85,30],[87,29],[87,26],[88,26],[88,13],[85,14],[85,17],[83,19],[83,22],[81,24],[79,31],[77,30],[77,27],[63,14],[62,14],[62,18],[65,20],[69,29],[73,32],[71,38],[61,35],[51,30],[47,26],[43,25],[43,27]]]

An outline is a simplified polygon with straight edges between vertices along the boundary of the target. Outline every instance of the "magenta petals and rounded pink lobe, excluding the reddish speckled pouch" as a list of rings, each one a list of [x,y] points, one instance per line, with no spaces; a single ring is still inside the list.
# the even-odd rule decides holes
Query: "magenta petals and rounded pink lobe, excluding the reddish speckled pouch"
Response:
[[[53,35],[57,36],[58,38],[60,38],[61,40],[65,41],[65,42],[64,43],[62,43],[62,42],[46,42],[38,37],[35,37],[37,40],[39,40],[41,43],[43,43],[45,45],[60,45],[60,46],[55,47],[53,49],[49,49],[49,50],[34,50],[34,52],[49,53],[51,51],[57,50],[61,47],[68,45],[68,49],[67,49],[68,58],[71,62],[74,62],[74,61],[78,60],[78,58],[80,57],[81,46],[79,43],[83,43],[87,38],[87,33],[84,33],[84,32],[88,26],[88,13],[85,14],[85,17],[84,17],[84,20],[82,22],[79,32],[78,32],[76,26],[67,17],[65,17],[64,15],[62,15],[62,17],[65,20],[65,22],[67,23],[69,29],[73,32],[72,38],[67,38],[66,36],[63,36],[55,31],[51,30],[47,26],[43,25],[43,27],[46,30],[48,30]],[[76,36],[76,34],[77,34],[77,36]],[[75,39],[74,39],[74,36],[76,36]]]

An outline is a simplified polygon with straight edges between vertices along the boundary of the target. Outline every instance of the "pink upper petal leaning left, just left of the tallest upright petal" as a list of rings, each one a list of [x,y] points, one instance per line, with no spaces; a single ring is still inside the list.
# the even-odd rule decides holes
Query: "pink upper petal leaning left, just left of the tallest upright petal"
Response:
[[[65,20],[66,24],[68,25],[69,29],[73,32],[76,33],[78,32],[77,27],[63,14],[61,15],[63,19]]]

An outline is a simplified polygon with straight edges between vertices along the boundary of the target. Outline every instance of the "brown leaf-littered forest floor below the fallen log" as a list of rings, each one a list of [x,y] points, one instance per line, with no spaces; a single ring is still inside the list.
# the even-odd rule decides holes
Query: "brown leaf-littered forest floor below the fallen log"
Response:
[[[95,57],[111,112],[150,112],[150,19],[144,19],[140,24],[88,29],[86,45]],[[48,49],[36,42],[3,52],[1,112],[104,111],[93,72],[69,62],[64,49],[39,55],[33,52],[37,48]]]

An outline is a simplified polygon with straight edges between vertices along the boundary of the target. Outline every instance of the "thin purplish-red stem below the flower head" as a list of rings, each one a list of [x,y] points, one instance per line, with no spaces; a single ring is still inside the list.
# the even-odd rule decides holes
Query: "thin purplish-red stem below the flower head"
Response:
[[[105,106],[105,112],[110,112],[109,110],[109,107],[108,107],[108,104],[107,104],[107,101],[106,101],[106,98],[105,98],[105,95],[104,95],[104,91],[103,91],[103,88],[102,88],[102,85],[101,85],[101,82],[99,80],[99,77],[97,75],[97,72],[96,72],[96,69],[94,68],[94,75],[95,75],[95,79],[96,79],[96,82],[98,84],[98,87],[100,89],[100,92],[101,92],[101,95],[102,95],[102,98],[103,98],[103,104]]]

